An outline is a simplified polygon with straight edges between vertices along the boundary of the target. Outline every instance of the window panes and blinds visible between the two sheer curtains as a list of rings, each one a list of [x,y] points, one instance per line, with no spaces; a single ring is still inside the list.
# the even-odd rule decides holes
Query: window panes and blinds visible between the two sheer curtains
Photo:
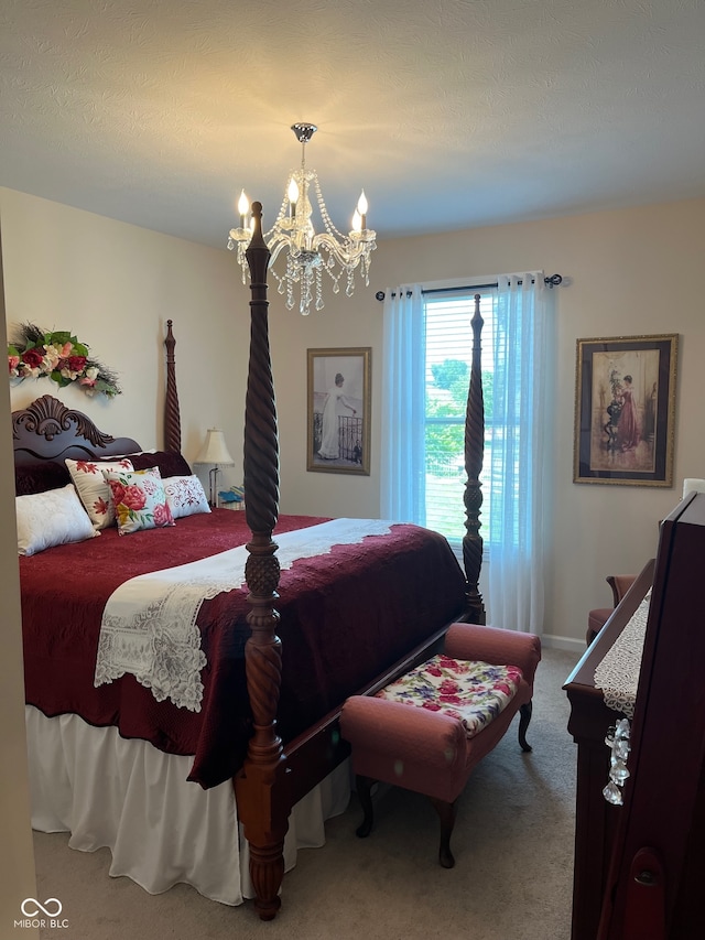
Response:
[[[473,359],[471,320],[477,290],[427,291],[425,320],[425,506],[426,526],[459,543],[465,534],[463,493],[465,473],[465,410]],[[480,315],[482,395],[485,399],[485,460],[480,521],[489,533],[489,467],[492,417],[492,327],[497,291],[484,289]]]

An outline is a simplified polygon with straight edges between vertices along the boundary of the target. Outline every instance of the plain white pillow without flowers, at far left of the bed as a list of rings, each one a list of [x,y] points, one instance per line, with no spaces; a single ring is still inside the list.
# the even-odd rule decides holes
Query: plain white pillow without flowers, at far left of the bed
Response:
[[[30,496],[14,497],[18,517],[18,554],[33,555],[99,536],[80,504],[73,484]]]

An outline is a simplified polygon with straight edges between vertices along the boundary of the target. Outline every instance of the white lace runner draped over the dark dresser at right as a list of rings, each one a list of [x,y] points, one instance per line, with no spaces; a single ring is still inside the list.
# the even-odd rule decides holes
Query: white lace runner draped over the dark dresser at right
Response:
[[[628,718],[634,716],[650,601],[651,588],[595,670],[595,684],[603,690],[607,707]]]

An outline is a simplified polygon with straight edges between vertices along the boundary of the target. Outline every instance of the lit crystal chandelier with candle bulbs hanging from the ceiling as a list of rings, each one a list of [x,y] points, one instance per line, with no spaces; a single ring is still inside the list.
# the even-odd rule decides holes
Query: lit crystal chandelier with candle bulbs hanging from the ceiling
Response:
[[[323,274],[333,281],[333,293],[340,290],[344,279],[345,293],[351,296],[355,290],[355,271],[369,284],[370,255],[377,247],[377,233],[367,227],[367,199],[362,191],[357,209],[352,216],[351,230],[343,235],[334,226],[321,192],[321,183],[315,170],[306,169],[306,144],[316,132],[315,125],[296,123],[292,130],[301,143],[301,168],[292,170],[286,181],[284,198],[274,225],[264,233],[264,241],[270,250],[270,272],[278,283],[280,294],[285,294],[286,306],[294,306],[295,285],[299,285],[299,311],[307,315],[313,303],[322,310]],[[316,234],[311,216],[315,197],[323,230]],[[242,191],[238,202],[239,228],[230,229],[228,248],[237,249],[238,262],[242,268],[242,283],[247,282],[246,251],[252,237],[250,204]],[[284,252],[286,269],[280,275],[274,269],[279,256]],[[315,295],[315,300],[314,300]]]

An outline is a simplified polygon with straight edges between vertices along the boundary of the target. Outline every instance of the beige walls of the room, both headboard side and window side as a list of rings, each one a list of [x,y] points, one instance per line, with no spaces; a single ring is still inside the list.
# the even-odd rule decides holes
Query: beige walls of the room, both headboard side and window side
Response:
[[[8,190],[0,190],[6,230],[8,322],[68,327],[122,375],[124,395],[89,401],[61,390],[100,426],[161,443],[164,322],[176,331],[184,452],[193,460],[206,426],[216,423],[238,466],[248,300],[235,259],[225,250],[138,229]],[[552,558],[545,633],[576,647],[587,611],[609,602],[610,572],[638,571],[657,547],[657,525],[675,505],[685,476],[705,476],[705,317],[701,267],[705,201],[597,213],[547,222],[390,240],[375,255],[369,288],[354,298],[326,294],[322,312],[302,317],[271,292],[270,333],[281,436],[284,512],[379,514],[382,304],[378,290],[400,282],[502,271],[560,272],[555,289],[555,476]],[[225,235],[225,234],[224,234]],[[669,489],[573,483],[575,343],[577,338],[679,333],[681,357],[674,486]],[[372,460],[369,477],[306,472],[306,349],[372,347]],[[47,381],[12,389],[18,407]],[[462,496],[462,495],[460,495]],[[459,509],[463,511],[459,496]],[[490,612],[491,617],[491,612]]]

